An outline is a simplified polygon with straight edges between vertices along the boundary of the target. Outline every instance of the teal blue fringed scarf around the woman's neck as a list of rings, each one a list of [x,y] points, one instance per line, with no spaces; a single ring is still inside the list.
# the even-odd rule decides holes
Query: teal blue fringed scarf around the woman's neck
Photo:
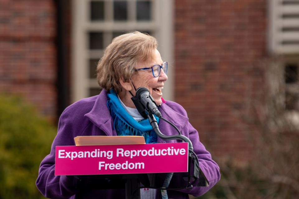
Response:
[[[117,135],[143,136],[145,143],[157,143],[157,135],[148,119],[137,122],[121,105],[114,90],[110,89],[107,96],[107,106],[113,118],[114,129],[116,129]],[[156,120],[159,123],[158,117],[156,117]]]

